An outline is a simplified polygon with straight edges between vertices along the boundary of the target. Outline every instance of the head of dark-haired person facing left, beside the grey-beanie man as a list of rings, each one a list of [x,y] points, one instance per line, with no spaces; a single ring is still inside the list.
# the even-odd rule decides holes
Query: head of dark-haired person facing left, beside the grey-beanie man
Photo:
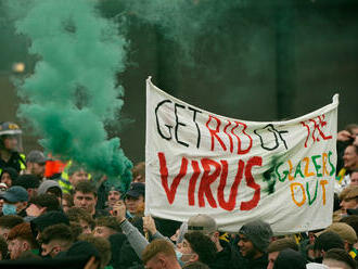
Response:
[[[207,235],[202,232],[190,232],[184,234],[179,252],[184,264],[199,260],[208,265],[215,259],[217,248]]]

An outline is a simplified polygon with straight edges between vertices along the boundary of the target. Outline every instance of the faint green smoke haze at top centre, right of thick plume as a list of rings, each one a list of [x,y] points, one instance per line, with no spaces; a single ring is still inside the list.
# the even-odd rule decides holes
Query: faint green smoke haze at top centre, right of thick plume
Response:
[[[123,0],[128,13],[144,24],[155,25],[165,39],[179,46],[187,64],[199,64],[195,51],[210,46],[222,48],[208,38],[220,36],[228,22],[228,13],[246,5],[245,0]],[[229,37],[223,37],[229,38]],[[232,39],[232,37],[230,37]]]

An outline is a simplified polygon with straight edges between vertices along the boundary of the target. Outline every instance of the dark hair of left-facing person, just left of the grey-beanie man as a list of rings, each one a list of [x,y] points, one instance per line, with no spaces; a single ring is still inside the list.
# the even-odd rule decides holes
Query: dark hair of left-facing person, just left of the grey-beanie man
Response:
[[[189,232],[184,234],[191,248],[197,254],[199,260],[208,265],[214,261],[216,256],[216,245],[209,236],[202,232]]]

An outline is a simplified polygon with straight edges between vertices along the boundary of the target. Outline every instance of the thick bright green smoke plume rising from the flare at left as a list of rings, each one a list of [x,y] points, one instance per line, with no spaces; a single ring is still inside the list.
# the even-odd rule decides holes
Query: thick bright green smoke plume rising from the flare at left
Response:
[[[116,74],[125,68],[127,42],[118,25],[99,15],[95,1],[33,0],[25,9],[23,2],[8,1],[9,11],[39,61],[18,86],[20,115],[52,154],[128,185],[131,162],[104,128],[123,105]]]

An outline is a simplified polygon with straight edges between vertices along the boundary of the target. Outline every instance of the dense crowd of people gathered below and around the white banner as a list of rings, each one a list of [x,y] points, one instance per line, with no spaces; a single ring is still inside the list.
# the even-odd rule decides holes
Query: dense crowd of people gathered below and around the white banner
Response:
[[[208,215],[186,222],[144,216],[144,163],[124,191],[81,164],[56,163],[41,151],[24,155],[21,133],[16,124],[0,124],[0,267],[357,267],[358,125],[337,134],[333,223],[285,235],[265,219],[227,233]]]

